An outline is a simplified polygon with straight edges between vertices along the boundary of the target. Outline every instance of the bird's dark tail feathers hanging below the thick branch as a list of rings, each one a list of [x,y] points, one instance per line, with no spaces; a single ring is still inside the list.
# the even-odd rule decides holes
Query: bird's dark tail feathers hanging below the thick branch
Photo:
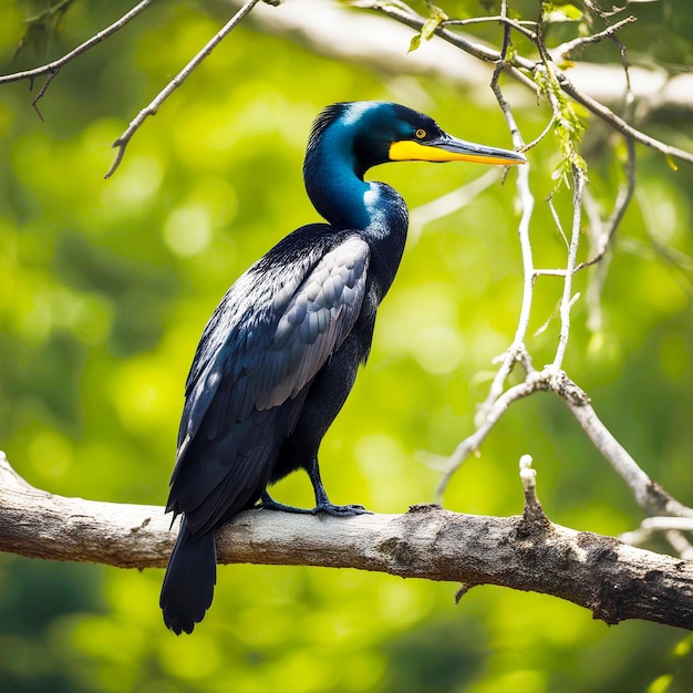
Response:
[[[185,518],[180,524],[162,587],[159,607],[164,623],[179,635],[192,633],[195,623],[205,618],[211,604],[217,581],[217,549],[214,530],[200,537],[193,536]]]

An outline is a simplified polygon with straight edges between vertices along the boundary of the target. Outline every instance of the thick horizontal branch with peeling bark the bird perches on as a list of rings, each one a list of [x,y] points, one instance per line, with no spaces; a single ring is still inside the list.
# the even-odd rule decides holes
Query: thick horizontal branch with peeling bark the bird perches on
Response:
[[[525,517],[414,506],[405,515],[311,517],[256,510],[218,532],[221,563],[324,566],[552,594],[618,623],[693,629],[693,563]],[[175,532],[163,508],[54,496],[0,454],[0,550],[32,558],[161,568]]]

